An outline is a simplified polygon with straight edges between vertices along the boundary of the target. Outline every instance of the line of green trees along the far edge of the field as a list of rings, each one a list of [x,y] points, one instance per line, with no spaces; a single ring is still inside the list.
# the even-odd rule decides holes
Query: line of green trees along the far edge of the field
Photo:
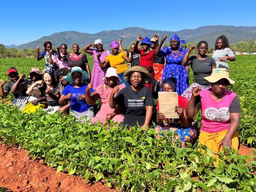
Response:
[[[191,45],[195,45],[197,46],[198,42],[196,43],[187,43],[186,45],[182,45],[185,47],[189,47]],[[163,46],[169,46],[168,43],[164,43]],[[54,47],[53,47],[54,48]],[[126,47],[126,49],[128,50],[130,48]],[[246,52],[246,53],[254,53],[256,52],[256,41],[251,38],[249,41],[241,41],[238,43],[231,43],[230,44],[230,48],[233,51],[237,51],[237,52]],[[214,47],[209,47],[208,49],[208,54],[212,54],[214,50]],[[68,52],[71,53],[72,50],[68,49]],[[193,54],[196,54],[197,51],[193,50]],[[15,47],[11,47],[11,48],[6,48],[3,44],[0,44],[0,58],[26,58],[26,57],[35,57],[36,55],[36,47],[34,49],[29,48],[29,49],[23,49],[23,50],[19,50]]]

